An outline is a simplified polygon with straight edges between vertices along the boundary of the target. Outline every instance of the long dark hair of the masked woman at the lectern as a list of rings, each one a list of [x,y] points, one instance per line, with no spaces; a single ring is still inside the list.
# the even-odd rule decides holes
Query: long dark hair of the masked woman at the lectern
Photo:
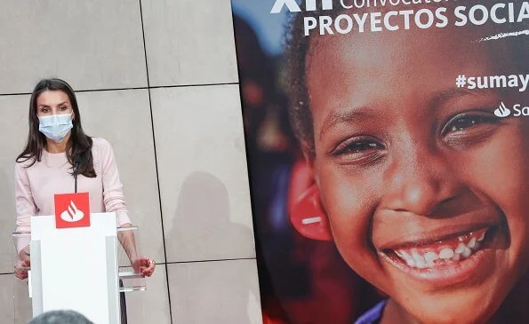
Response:
[[[66,156],[72,166],[77,164],[78,174],[82,174],[87,178],[95,178],[96,173],[93,169],[92,159],[92,138],[84,134],[81,126],[81,114],[79,114],[79,107],[77,106],[76,93],[68,83],[60,79],[43,79],[36,83],[29,100],[29,132],[26,147],[17,156],[16,161],[29,162],[27,165],[29,167],[42,159],[43,149],[46,148],[46,138],[38,130],[39,121],[36,115],[36,100],[44,91],[62,91],[68,95],[75,119],[72,122],[73,128],[66,144]]]

